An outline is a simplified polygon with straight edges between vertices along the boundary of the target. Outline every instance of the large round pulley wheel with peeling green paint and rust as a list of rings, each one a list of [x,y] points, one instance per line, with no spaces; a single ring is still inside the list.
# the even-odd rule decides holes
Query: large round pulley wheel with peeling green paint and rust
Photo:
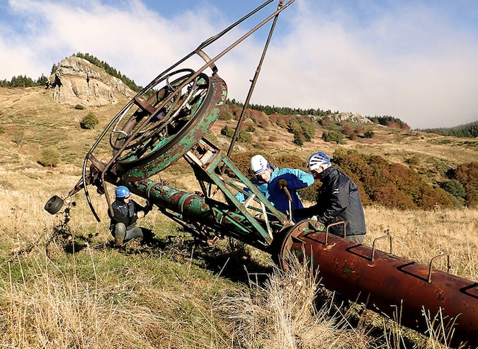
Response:
[[[217,76],[194,75],[188,69],[172,72],[161,79],[164,87],[135,97],[137,110],[110,136],[113,155],[120,152],[116,172],[121,179],[137,181],[164,170],[216,121],[226,101],[226,84]]]

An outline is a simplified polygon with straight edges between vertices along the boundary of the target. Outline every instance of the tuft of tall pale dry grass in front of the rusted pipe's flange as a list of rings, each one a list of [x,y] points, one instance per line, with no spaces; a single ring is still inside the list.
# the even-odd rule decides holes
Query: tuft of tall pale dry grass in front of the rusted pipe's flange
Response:
[[[348,326],[340,309],[331,314],[331,300],[315,308],[317,282],[307,265],[291,260],[288,273],[274,270],[258,294],[222,301],[224,316],[234,320],[229,331],[241,348],[371,348],[373,338]]]

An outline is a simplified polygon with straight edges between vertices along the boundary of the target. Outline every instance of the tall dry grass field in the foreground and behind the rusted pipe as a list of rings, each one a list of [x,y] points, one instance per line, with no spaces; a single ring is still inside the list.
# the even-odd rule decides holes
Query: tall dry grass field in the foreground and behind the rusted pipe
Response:
[[[201,267],[193,251],[110,248],[102,197],[92,198],[101,223],[79,195],[69,237],[55,240],[64,217],[43,210],[51,193],[0,189],[0,196],[5,348],[405,348],[399,326],[384,325],[382,335],[372,336],[367,326],[351,326],[347,310],[332,300],[315,309],[320,275],[305,266],[245,286]],[[428,264],[450,253],[453,274],[478,279],[478,210],[369,207],[365,215],[365,244],[389,233],[394,254]],[[159,236],[173,229],[159,211],[142,223]],[[81,241],[81,250],[67,252],[62,244],[69,238]],[[389,248],[382,240],[377,247]],[[429,340],[416,348],[440,347]]]

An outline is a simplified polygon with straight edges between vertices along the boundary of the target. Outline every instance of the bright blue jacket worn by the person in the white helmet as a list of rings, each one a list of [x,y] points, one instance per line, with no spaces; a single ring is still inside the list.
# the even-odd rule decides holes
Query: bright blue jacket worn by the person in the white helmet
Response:
[[[288,189],[292,197],[292,211],[302,209],[304,205],[302,205],[300,196],[297,194],[297,189],[309,187],[309,185],[314,184],[312,174],[287,167],[279,170],[276,167],[271,173],[271,180],[269,180],[269,182],[263,182],[258,178],[252,181],[252,184],[257,186],[259,192],[266,196],[266,199],[271,201],[271,204],[273,204],[278,211],[286,214],[287,211],[289,211],[289,199],[284,190],[279,188],[279,179],[285,179],[288,182]],[[244,191],[250,192],[247,188],[244,189]],[[236,197],[239,201],[246,201],[246,196],[241,192],[237,193]]]

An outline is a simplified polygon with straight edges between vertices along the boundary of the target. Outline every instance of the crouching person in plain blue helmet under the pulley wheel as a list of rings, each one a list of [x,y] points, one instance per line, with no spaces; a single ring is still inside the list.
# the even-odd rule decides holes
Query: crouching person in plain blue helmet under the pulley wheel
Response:
[[[120,185],[115,190],[116,199],[113,201],[113,216],[111,218],[110,232],[115,238],[115,245],[120,246],[134,238],[144,238],[143,228],[136,226],[138,218],[143,217],[152,210],[152,205],[147,203],[141,206],[135,200],[130,199],[130,189]]]

